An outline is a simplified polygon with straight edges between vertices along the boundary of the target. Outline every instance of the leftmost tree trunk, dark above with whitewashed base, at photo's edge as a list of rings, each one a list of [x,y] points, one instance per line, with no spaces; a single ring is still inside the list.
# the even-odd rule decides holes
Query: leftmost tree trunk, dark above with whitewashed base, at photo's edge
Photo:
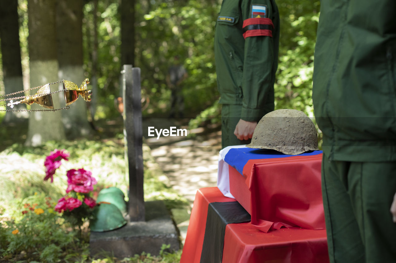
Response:
[[[5,94],[23,90],[17,8],[17,0],[0,0],[0,38]],[[25,110],[26,104],[17,104],[13,109]],[[23,122],[27,117],[27,112],[7,111],[3,123]]]

